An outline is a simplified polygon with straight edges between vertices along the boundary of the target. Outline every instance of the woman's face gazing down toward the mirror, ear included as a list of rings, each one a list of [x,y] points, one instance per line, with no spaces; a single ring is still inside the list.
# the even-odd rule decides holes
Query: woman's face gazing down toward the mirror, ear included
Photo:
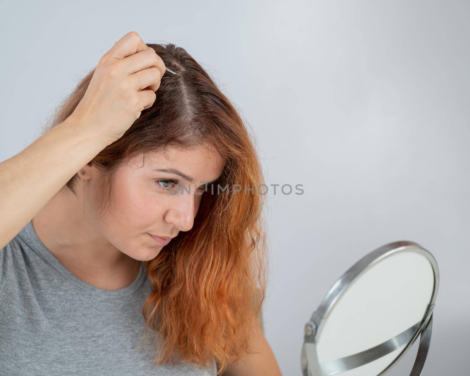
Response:
[[[190,230],[205,183],[220,176],[223,163],[205,146],[167,148],[165,154],[146,154],[145,163],[136,157],[116,172],[108,210],[98,208],[104,206],[100,182],[87,182],[86,210],[94,213],[88,220],[119,251],[138,260],[155,258],[165,244],[149,234],[173,238]]]

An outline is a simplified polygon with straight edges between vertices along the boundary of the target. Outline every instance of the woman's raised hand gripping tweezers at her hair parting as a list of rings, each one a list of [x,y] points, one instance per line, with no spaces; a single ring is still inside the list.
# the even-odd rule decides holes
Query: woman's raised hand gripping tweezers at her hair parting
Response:
[[[155,102],[164,73],[161,57],[131,31],[101,57],[71,117],[110,145]]]

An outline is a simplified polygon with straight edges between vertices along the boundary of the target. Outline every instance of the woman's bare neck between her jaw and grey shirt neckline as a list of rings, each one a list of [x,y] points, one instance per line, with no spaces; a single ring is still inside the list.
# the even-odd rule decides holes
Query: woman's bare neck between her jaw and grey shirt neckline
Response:
[[[119,251],[99,231],[94,216],[83,219],[83,191],[67,187],[33,217],[32,225],[47,249],[78,278],[104,290],[131,284],[141,261]]]

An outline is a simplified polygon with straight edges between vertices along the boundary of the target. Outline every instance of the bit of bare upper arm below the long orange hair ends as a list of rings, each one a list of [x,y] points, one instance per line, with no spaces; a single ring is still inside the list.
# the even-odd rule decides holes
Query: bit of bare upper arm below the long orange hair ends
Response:
[[[236,364],[230,364],[222,376],[282,376],[274,353],[261,327],[253,333],[253,347],[258,354],[245,354]]]

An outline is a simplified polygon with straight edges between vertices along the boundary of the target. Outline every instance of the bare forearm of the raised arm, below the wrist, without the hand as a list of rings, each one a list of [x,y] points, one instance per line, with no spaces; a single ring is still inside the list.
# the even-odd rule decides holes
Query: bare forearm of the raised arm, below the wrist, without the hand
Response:
[[[69,117],[0,163],[0,249],[106,146]]]

